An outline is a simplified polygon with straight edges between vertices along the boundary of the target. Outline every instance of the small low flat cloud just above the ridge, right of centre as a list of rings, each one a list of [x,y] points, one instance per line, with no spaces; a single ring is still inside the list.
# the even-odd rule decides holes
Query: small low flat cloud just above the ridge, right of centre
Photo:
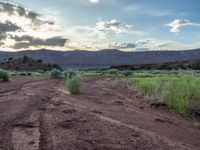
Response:
[[[134,43],[119,43],[119,42],[112,42],[109,43],[109,48],[116,48],[116,49],[129,49],[135,48],[136,45]]]

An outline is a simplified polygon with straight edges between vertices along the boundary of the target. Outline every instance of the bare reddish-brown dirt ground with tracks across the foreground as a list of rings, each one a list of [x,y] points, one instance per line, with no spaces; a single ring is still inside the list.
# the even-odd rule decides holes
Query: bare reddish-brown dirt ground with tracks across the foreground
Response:
[[[14,78],[0,83],[0,149],[200,149],[200,130],[166,107],[151,108],[113,78],[86,78],[69,95],[63,80]]]

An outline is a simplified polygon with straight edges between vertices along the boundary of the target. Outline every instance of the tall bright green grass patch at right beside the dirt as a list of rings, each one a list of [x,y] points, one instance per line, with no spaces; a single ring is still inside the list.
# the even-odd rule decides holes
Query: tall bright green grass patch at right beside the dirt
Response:
[[[133,78],[134,86],[150,96],[159,96],[175,112],[187,116],[200,108],[200,78],[192,75],[182,77]]]

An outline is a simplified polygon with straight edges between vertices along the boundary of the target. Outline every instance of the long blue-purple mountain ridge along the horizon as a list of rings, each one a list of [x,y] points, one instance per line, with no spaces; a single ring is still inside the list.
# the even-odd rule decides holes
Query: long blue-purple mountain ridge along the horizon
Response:
[[[0,61],[9,57],[28,56],[42,59],[44,63],[59,64],[64,69],[92,69],[109,68],[110,66],[157,64],[176,61],[200,59],[200,49],[183,51],[142,51],[123,52],[116,49],[100,51],[54,51],[54,50],[27,50],[20,52],[0,51]]]

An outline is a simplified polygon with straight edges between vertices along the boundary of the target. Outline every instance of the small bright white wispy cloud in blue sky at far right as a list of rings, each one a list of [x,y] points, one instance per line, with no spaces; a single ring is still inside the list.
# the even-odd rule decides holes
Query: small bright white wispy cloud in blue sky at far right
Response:
[[[171,28],[170,32],[177,33],[177,32],[180,32],[182,27],[184,27],[184,26],[200,27],[200,23],[196,23],[196,22],[193,22],[193,21],[187,20],[187,19],[175,19],[174,21],[167,24],[166,26]]]

